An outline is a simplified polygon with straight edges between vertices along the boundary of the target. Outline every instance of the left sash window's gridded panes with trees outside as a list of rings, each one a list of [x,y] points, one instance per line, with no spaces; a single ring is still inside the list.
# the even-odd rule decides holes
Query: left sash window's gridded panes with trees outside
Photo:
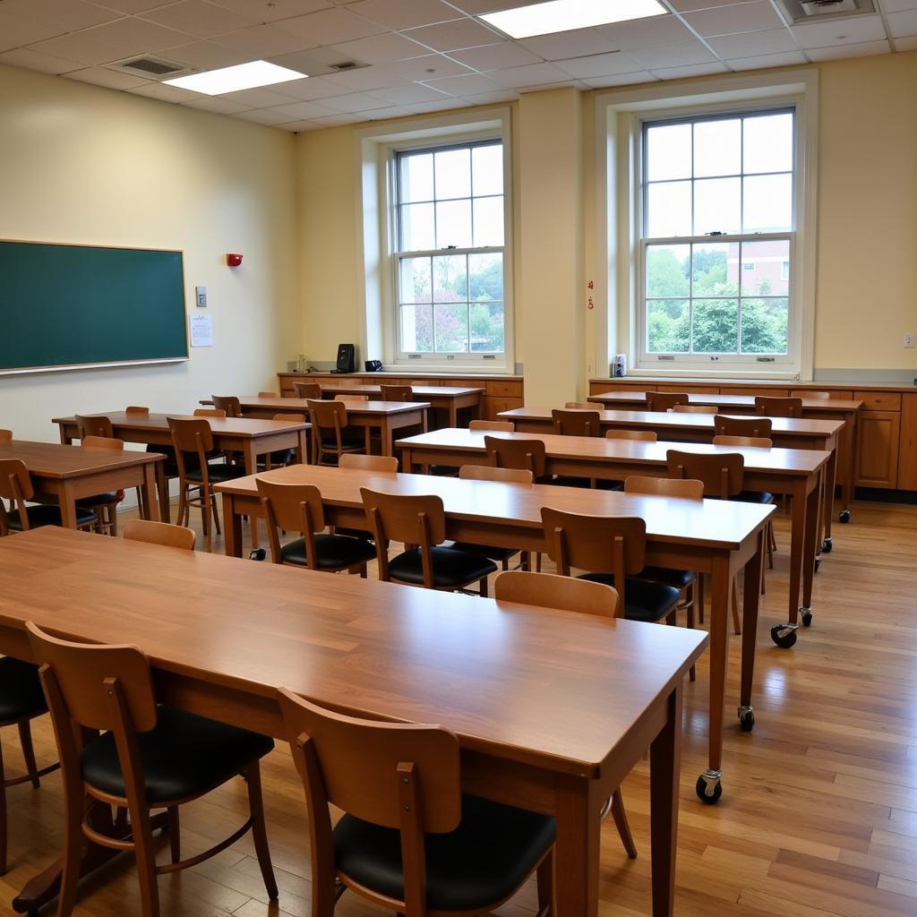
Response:
[[[503,143],[394,157],[399,359],[488,359],[506,350]]]

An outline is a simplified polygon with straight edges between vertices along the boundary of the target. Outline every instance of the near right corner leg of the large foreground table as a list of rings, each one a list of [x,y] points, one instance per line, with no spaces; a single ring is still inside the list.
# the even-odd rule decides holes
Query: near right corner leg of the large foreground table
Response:
[[[599,847],[602,801],[592,780],[558,778],[554,876],[558,917],[599,912]]]

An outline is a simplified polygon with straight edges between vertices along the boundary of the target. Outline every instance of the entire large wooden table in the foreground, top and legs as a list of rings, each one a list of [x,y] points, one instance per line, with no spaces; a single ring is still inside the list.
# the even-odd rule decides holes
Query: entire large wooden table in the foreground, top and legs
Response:
[[[682,692],[701,631],[51,529],[0,539],[0,580],[9,656],[31,658],[26,621],[139,646],[161,702],[282,741],[279,688],[453,730],[463,790],[557,818],[558,917],[598,914],[602,800],[648,747],[652,913],[673,912]],[[118,853],[87,847],[87,871]],[[14,910],[50,901],[59,872]]]

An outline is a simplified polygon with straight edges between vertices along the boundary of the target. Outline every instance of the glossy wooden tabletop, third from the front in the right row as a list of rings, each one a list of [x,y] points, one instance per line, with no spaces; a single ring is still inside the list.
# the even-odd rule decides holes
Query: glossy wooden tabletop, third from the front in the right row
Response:
[[[655,416],[655,415],[654,415]],[[687,414],[686,416],[696,416]],[[628,461],[635,464],[665,465],[669,449],[679,452],[704,454],[741,453],[748,470],[768,471],[774,474],[812,474],[831,458],[830,452],[820,449],[759,448],[749,446],[713,446],[712,443],[643,442],[635,439],[606,439],[604,436],[558,436],[553,433],[495,433],[488,430],[433,430],[429,433],[407,436],[396,445],[411,449],[467,449],[470,453],[485,452],[484,436],[502,439],[540,439],[548,456],[556,458],[581,458],[602,461]],[[568,488],[569,490],[569,488]],[[594,491],[592,491],[594,493]]]

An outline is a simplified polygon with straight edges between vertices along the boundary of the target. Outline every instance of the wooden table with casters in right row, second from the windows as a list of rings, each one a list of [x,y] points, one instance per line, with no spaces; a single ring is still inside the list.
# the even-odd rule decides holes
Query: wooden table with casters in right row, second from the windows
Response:
[[[576,409],[572,409],[576,410]],[[498,414],[501,420],[512,421],[516,430],[525,433],[551,433],[554,424],[549,407],[520,407]],[[823,478],[824,494],[834,493],[837,479],[837,454],[844,430],[841,420],[814,420],[804,417],[768,418],[770,439],[775,446],[796,449],[818,449],[830,452]],[[611,429],[652,430],[670,442],[709,443],[713,440],[713,414],[681,414],[668,411],[599,411],[599,426],[604,433]],[[832,501],[822,501],[822,522],[819,542],[827,553],[834,547],[832,540]]]

